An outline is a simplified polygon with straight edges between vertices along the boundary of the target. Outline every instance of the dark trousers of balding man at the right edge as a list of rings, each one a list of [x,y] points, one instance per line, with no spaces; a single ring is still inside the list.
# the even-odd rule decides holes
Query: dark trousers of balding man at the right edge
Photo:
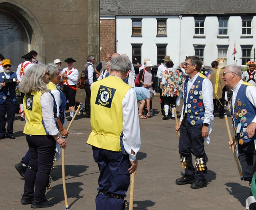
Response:
[[[254,141],[242,145],[238,144],[238,159],[241,164],[244,180],[251,182],[252,176],[256,171],[256,151]]]

